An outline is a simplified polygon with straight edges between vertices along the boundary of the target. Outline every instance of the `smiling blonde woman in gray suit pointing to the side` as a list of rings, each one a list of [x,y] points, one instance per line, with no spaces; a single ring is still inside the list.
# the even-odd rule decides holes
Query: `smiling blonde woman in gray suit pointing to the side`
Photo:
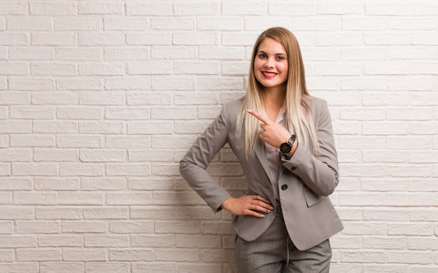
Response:
[[[337,152],[327,104],[307,92],[288,29],[260,34],[248,81],[181,160],[181,175],[213,211],[233,215],[239,272],[329,272],[328,239],[343,228],[327,197],[339,183]],[[247,180],[239,198],[206,172],[227,143]]]

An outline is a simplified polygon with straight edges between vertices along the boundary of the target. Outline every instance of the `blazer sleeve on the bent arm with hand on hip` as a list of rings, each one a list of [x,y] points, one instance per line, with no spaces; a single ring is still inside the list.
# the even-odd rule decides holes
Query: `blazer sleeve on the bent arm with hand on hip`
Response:
[[[180,174],[189,186],[209,204],[213,211],[218,212],[220,205],[227,200],[227,190],[213,181],[206,171],[216,153],[227,143],[226,105],[207,129],[196,139],[192,147],[180,161]]]

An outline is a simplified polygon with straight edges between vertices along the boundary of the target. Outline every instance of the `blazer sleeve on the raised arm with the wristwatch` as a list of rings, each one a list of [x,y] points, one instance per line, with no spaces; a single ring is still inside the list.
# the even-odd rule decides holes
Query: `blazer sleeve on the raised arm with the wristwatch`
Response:
[[[332,120],[327,102],[322,100],[320,113],[316,117],[317,119],[313,122],[316,126],[316,137],[320,146],[318,158],[313,156],[313,153],[306,146],[298,143],[292,158],[286,160],[283,156],[282,162],[283,166],[299,176],[313,193],[327,196],[333,193],[339,183],[337,151],[334,146]]]

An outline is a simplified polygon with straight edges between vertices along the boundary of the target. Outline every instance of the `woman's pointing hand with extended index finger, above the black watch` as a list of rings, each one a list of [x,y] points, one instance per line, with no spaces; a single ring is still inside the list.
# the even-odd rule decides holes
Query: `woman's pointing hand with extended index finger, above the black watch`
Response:
[[[260,139],[262,141],[266,142],[267,144],[280,148],[280,145],[285,143],[290,139],[290,132],[283,127],[282,125],[279,125],[278,123],[274,123],[274,121],[269,120],[269,118],[265,118],[264,116],[260,115],[260,113],[257,113],[253,110],[247,110],[248,113],[255,116],[258,120],[260,120],[262,123],[260,123],[260,127],[262,128],[262,133],[260,134]]]

